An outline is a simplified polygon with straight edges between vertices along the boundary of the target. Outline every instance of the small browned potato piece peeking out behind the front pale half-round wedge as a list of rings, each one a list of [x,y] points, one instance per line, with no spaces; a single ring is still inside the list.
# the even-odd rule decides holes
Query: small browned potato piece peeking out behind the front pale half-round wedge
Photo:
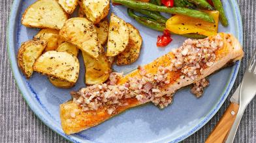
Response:
[[[71,53],[75,57],[77,57],[78,55],[78,48],[76,47],[76,45],[73,45],[69,42],[64,42],[63,44],[59,45],[59,47],[57,47],[57,51],[66,51],[68,53]]]

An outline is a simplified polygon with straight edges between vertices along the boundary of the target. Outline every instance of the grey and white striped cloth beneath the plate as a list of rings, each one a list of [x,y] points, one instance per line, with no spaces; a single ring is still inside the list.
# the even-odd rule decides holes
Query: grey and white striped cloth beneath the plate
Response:
[[[7,54],[7,21],[11,5],[12,0],[0,2],[0,142],[68,142],[40,122],[25,103],[15,84]],[[244,27],[245,55],[229,98],[242,80],[251,52],[255,49],[256,40],[255,0],[239,0],[238,5]],[[184,142],[204,142],[229,106],[229,98],[210,122]],[[234,142],[256,142],[255,106],[256,99],[253,99],[244,113]]]

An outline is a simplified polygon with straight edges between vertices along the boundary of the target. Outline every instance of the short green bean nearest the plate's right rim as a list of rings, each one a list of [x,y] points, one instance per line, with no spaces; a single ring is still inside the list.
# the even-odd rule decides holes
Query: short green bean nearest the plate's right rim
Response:
[[[221,19],[221,24],[225,27],[229,25],[229,21],[227,21],[227,17],[225,16],[225,12],[223,10],[223,6],[220,0],[212,0],[214,3],[214,7],[219,11],[219,19]]]

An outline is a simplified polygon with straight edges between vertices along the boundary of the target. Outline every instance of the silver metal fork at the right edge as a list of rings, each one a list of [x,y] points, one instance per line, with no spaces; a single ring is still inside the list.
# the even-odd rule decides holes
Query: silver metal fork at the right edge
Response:
[[[244,110],[246,110],[247,105],[256,94],[256,73],[255,73],[256,55],[255,54],[256,54],[256,49],[255,51],[253,51],[253,55],[251,55],[251,59],[249,60],[248,68],[244,73],[244,78],[240,86],[239,110],[236,115],[236,120],[234,120],[234,124],[232,125],[231,131],[229,132],[229,136],[227,137],[226,143],[233,142],[234,136],[236,135],[236,130],[238,129],[238,125],[244,114]]]

